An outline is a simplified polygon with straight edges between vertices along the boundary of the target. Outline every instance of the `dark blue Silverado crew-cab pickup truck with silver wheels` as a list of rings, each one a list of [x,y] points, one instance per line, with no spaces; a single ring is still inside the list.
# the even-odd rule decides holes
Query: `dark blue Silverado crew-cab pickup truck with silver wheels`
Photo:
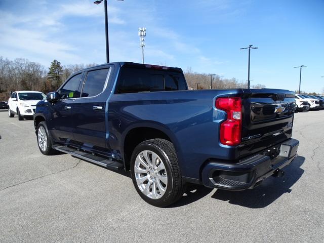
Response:
[[[297,156],[294,92],[188,90],[180,68],[107,63],[73,73],[34,114],[41,152],[131,171],[149,204],[186,183],[252,189]]]

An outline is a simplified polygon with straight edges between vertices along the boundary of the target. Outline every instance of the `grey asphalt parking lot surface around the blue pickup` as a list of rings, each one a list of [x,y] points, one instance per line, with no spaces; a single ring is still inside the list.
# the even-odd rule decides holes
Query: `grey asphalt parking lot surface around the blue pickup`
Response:
[[[128,173],[39,152],[32,120],[0,111],[0,242],[323,242],[324,110],[296,113],[297,159],[253,190],[190,186],[146,204]]]

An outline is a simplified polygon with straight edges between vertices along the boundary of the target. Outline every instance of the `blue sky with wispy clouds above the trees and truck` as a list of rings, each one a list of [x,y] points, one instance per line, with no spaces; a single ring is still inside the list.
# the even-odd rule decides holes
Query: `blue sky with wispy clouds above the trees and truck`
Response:
[[[110,0],[110,61],[141,62],[138,27],[146,27],[145,62],[216,73],[251,84],[324,88],[324,1]],[[103,4],[93,1],[0,1],[0,56],[49,66],[104,63]]]

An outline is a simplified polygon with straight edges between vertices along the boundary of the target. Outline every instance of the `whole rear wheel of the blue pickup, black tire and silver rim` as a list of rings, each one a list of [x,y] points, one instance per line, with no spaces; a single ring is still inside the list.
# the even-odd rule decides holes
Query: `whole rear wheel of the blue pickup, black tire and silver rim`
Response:
[[[131,175],[139,195],[156,207],[167,207],[181,198],[184,181],[173,144],[165,139],[146,140],[134,149]]]

